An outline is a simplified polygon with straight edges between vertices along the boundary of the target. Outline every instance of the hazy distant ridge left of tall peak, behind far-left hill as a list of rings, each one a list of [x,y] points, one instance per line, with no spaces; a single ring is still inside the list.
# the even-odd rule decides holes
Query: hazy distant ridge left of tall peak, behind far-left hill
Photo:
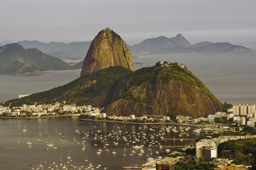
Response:
[[[37,48],[40,51],[43,51],[45,53],[48,52],[56,52],[56,51],[62,51],[67,54],[86,54],[91,41],[90,42],[70,42],[70,43],[64,43],[64,42],[39,42],[39,41],[19,41],[18,42],[22,47],[24,48]]]

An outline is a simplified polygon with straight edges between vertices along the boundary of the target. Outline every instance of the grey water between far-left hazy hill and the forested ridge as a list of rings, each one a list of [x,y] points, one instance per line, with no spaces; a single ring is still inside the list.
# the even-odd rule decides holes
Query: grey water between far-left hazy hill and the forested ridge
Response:
[[[80,76],[81,70],[45,72],[40,76],[0,75],[0,102],[65,85]]]

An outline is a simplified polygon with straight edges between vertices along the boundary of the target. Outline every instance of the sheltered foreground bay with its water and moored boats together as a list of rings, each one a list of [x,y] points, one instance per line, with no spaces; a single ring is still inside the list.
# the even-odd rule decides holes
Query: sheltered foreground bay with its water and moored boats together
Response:
[[[24,125],[27,131],[23,131]],[[17,160],[3,160],[7,163],[1,164],[0,169],[103,170],[141,166],[148,158],[165,156],[191,144],[191,140],[162,140],[174,136],[179,139],[182,128],[81,121],[75,116],[0,119],[0,135],[4,136],[0,142],[8,146],[1,149],[4,159]],[[195,138],[195,128],[191,127],[189,136],[183,137]]]

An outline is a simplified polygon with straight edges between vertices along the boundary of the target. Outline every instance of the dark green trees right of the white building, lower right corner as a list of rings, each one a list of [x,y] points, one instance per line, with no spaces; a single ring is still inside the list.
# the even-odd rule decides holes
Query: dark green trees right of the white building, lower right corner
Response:
[[[233,159],[233,163],[254,165],[256,169],[256,139],[230,140],[218,145],[219,157]]]

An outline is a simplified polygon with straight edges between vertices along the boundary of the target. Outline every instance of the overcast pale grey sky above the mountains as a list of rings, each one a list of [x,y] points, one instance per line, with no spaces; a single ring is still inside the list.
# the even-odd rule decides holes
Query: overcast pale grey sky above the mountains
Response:
[[[0,16],[0,42],[91,41],[105,27],[130,45],[178,33],[256,42],[256,0],[0,0]]]

